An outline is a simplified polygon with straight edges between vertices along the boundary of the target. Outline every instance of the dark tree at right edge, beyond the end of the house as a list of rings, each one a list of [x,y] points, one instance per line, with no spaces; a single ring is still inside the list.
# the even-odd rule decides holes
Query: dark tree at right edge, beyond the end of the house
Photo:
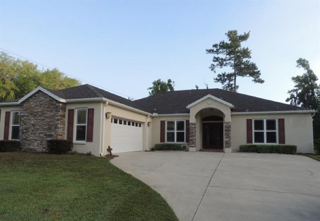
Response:
[[[290,104],[305,108],[320,110],[320,85],[317,84],[317,76],[310,68],[306,59],[297,60],[298,68],[303,68],[305,73],[292,77],[294,88],[288,91],[289,97],[286,101]],[[320,139],[320,113],[315,113],[313,117],[313,138]]]

